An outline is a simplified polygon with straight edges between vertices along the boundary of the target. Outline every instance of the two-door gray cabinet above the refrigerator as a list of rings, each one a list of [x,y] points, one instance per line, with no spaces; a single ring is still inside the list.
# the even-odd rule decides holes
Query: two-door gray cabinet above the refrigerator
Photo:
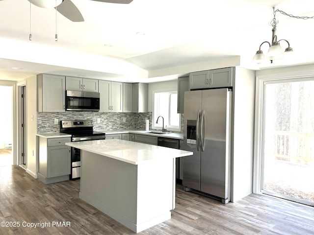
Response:
[[[189,75],[190,90],[232,87],[233,67],[191,72]]]

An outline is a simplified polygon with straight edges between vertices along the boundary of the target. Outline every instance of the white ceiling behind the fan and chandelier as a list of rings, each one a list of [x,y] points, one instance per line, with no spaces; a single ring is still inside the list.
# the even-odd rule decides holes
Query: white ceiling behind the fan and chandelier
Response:
[[[313,0],[72,1],[84,22],[35,5],[30,20],[27,0],[0,0],[0,79],[45,72],[153,82],[219,66],[282,67],[278,62],[260,68],[252,63],[260,44],[271,41],[272,7],[294,16],[314,16]],[[279,12],[276,19],[278,39],[289,41],[295,64],[314,63],[314,19]]]

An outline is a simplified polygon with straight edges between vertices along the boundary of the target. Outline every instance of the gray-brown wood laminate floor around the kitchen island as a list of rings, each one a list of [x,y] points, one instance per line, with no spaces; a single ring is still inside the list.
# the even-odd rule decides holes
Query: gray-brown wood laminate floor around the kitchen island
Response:
[[[162,190],[162,187],[156,186],[156,190]],[[80,200],[78,191],[79,181],[44,185],[19,166],[1,166],[0,235],[134,234]],[[57,224],[52,226],[56,221],[65,223],[59,224],[63,227],[56,226]],[[3,222],[9,227],[3,227]],[[40,227],[31,228],[31,224],[27,223],[38,223]],[[314,208],[258,194],[251,194],[235,203],[222,204],[193,192],[184,192],[183,187],[178,185],[176,209],[172,211],[172,218],[138,233],[138,235],[256,234],[313,235]]]

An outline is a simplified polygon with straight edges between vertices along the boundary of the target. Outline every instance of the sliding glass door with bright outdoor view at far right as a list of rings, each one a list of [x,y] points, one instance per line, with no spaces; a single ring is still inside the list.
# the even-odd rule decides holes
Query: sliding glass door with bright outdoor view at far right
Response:
[[[314,78],[262,90],[261,191],[314,206]]]

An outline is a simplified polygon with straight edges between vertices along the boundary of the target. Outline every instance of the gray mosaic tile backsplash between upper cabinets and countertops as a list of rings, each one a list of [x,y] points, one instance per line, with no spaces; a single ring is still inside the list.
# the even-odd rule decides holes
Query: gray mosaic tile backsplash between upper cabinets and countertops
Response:
[[[101,122],[97,123],[97,118]],[[54,124],[58,119],[58,124]],[[60,121],[62,120],[93,120],[94,130],[119,130],[119,129],[145,129],[145,120],[149,119],[152,129],[152,113],[105,113],[105,112],[76,112],[63,113],[37,113],[37,132],[53,133],[60,132]],[[125,122],[124,122],[125,119]],[[181,132],[183,132],[183,115],[181,116]]]

